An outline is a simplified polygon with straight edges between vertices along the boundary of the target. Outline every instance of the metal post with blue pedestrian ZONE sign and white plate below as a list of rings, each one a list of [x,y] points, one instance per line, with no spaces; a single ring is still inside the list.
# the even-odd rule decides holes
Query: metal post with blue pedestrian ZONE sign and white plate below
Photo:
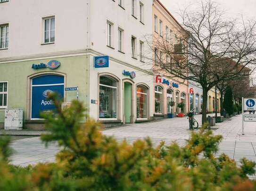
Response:
[[[242,135],[244,135],[244,122],[256,122],[256,115],[251,114],[256,110],[256,98],[242,98]],[[250,114],[244,114],[249,111]]]

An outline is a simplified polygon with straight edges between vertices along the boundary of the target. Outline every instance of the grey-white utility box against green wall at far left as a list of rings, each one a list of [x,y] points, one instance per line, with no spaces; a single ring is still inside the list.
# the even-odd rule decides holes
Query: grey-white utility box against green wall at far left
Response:
[[[23,127],[23,109],[5,109],[4,129],[22,130]]]

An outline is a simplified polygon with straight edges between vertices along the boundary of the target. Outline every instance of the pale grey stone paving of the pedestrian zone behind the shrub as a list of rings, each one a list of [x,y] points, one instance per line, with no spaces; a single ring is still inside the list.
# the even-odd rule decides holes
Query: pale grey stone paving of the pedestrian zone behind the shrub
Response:
[[[200,124],[201,115],[196,115],[195,118]],[[245,135],[241,135],[241,118],[241,115],[237,115],[230,120],[216,124],[215,128],[218,129],[214,131],[214,134],[223,136],[223,141],[219,145],[220,150],[216,155],[226,153],[236,161],[243,157],[256,161],[256,123],[246,122]],[[107,136],[115,136],[118,140],[126,138],[128,142],[150,137],[155,145],[162,140],[166,144],[176,141],[179,145],[184,145],[190,136],[188,120],[185,117],[129,124],[106,129],[103,133]],[[56,144],[51,144],[45,148],[39,137],[16,140],[12,143],[12,147],[16,151],[12,157],[12,163],[21,166],[36,164],[37,162],[52,162],[58,152]]]

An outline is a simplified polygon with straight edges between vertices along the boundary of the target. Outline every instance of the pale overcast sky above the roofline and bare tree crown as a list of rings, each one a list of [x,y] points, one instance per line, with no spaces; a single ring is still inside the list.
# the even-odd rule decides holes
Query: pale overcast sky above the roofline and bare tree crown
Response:
[[[179,9],[184,9],[189,5],[193,6],[201,0],[160,0],[172,15],[181,21],[178,15]],[[239,17],[243,15],[246,19],[256,19],[256,0],[213,0],[219,4],[220,8],[226,11],[229,17]]]

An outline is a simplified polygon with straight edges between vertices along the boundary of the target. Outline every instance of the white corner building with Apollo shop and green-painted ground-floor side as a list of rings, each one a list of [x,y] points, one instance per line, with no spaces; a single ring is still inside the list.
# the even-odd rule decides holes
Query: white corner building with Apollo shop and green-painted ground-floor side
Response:
[[[106,124],[151,119],[152,0],[9,0],[0,12],[0,126],[4,109],[23,108],[25,126],[43,128],[49,91],[64,102],[78,93]]]

